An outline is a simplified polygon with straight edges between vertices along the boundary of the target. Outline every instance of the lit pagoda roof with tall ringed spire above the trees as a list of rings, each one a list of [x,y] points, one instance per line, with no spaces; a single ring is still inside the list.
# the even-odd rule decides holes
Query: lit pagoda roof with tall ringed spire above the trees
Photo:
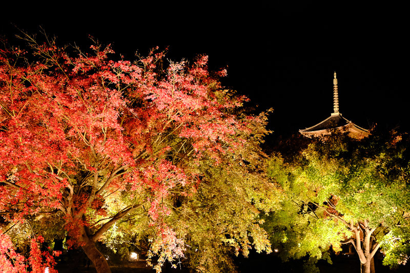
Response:
[[[350,120],[347,120],[339,112],[339,96],[337,91],[337,78],[336,72],[334,74],[335,78],[333,79],[333,113],[330,117],[319,122],[318,124],[306,128],[304,130],[299,130],[305,137],[318,137],[331,134],[333,131],[347,132],[348,135],[352,138],[362,139],[370,135],[368,130],[363,129],[353,123]]]

